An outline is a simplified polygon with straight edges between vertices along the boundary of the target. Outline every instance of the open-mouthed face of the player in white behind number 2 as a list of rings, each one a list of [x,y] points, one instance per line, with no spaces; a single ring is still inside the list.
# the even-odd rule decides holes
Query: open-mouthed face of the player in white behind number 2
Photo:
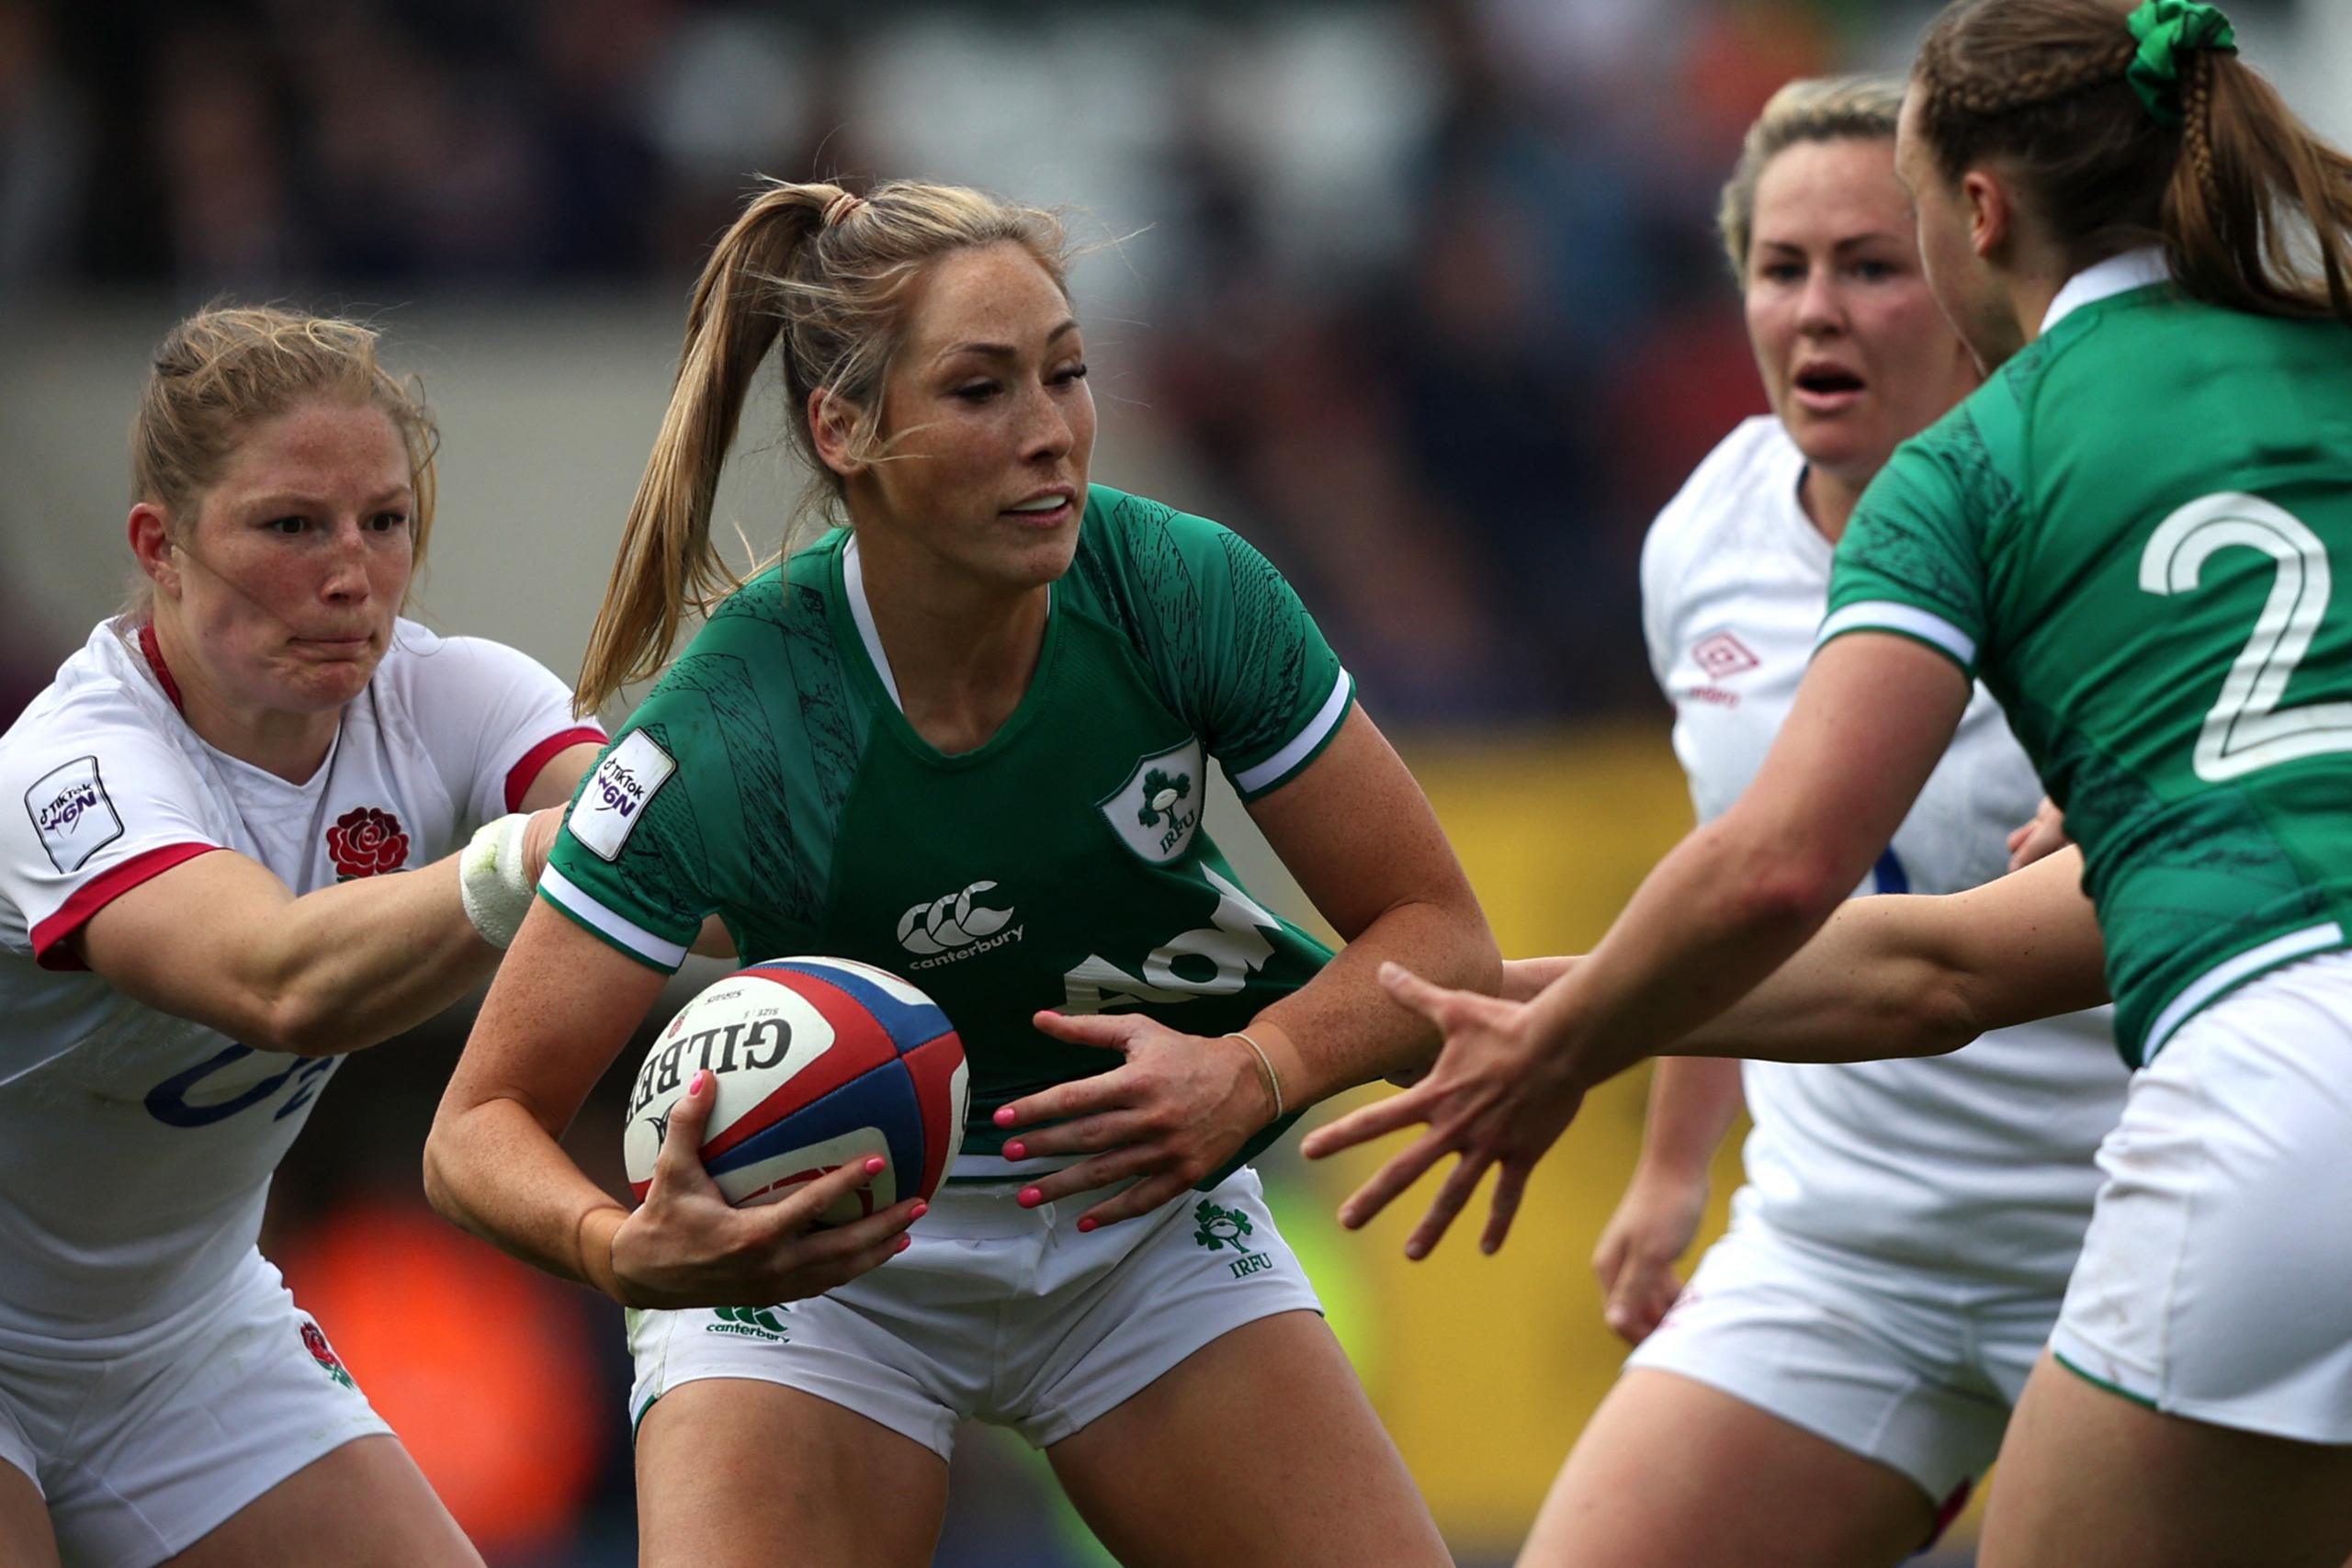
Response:
[[[1748,339],[1806,461],[1856,484],[1976,386],[1884,139],[1806,141],[1757,181]]]

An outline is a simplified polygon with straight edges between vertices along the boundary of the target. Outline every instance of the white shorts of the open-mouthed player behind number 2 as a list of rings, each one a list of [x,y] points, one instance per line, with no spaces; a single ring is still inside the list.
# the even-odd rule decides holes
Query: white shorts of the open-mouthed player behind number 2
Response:
[[[2058,1281],[1926,1274],[1740,1220],[1625,1366],[1731,1394],[1945,1507],[1992,1465],[2056,1316]]]

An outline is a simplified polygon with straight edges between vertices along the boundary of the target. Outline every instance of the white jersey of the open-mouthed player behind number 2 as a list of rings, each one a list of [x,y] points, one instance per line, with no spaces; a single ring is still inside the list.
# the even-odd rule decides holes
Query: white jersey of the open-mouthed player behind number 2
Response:
[[[1698,818],[1764,764],[1830,590],[1804,515],[1804,454],[1778,418],[1740,423],[1642,548],[1642,630],[1675,705]],[[2042,785],[1983,686],[1858,893],[1957,893],[2009,867]],[[2122,1114],[2112,1009],[1985,1034],[1952,1056],[1745,1063],[1755,1131],[1733,1213],[1783,1234],[1971,1279],[2058,1291],[2091,1220],[2091,1154]]]

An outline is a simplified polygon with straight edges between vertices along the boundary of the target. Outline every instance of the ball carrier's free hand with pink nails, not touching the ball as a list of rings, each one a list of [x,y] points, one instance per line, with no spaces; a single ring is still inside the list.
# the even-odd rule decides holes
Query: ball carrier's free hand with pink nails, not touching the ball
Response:
[[[1007,1159],[1089,1154],[1023,1187],[1023,1208],[1134,1180],[1080,1215],[1077,1227],[1131,1220],[1223,1166],[1275,1119],[1258,1058],[1240,1039],[1178,1034],[1141,1013],[1037,1013],[1035,1023],[1054,1039],[1127,1060],[997,1107],[995,1121],[1007,1131],[1054,1124],[1009,1138]]]

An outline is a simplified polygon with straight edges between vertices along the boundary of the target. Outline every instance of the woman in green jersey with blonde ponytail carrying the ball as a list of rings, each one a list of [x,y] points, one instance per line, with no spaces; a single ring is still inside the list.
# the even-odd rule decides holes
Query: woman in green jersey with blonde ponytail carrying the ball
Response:
[[[447,1213],[640,1309],[649,1563],[927,1563],[964,1418],[1044,1448],[1127,1563],[1446,1561],[1244,1159],[1428,1053],[1383,959],[1491,990],[1494,938],[1265,557],[1089,487],[1063,268],[1037,209],[779,183],[694,294],[581,701],[731,592],[597,769],[642,804],[574,804],[428,1150]],[[769,348],[847,529],[734,585],[710,496]],[[1211,757],[1338,957],[1216,851]],[[948,1011],[974,1114],[927,1211],[729,1208],[706,1077],[635,1213],[564,1157],[706,917]]]

